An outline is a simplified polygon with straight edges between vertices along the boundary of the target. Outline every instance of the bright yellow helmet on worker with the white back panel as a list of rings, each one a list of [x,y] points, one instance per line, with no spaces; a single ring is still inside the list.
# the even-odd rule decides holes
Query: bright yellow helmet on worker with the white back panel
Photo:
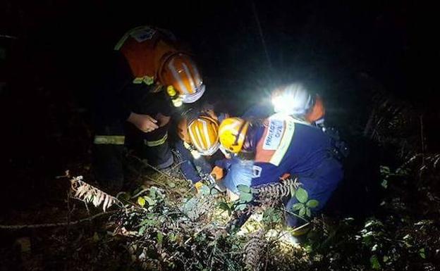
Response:
[[[232,153],[239,153],[245,143],[249,122],[243,118],[226,118],[219,127],[220,144]]]

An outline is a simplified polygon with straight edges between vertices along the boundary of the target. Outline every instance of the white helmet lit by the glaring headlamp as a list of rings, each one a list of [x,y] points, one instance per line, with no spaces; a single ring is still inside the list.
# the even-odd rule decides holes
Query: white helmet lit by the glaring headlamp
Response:
[[[275,89],[272,93],[272,104],[275,113],[305,115],[313,106],[313,99],[302,84],[293,83]]]

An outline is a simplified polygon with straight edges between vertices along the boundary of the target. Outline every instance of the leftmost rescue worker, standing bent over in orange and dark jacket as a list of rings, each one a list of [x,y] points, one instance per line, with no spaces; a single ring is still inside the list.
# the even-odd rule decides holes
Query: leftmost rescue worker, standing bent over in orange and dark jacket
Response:
[[[124,144],[137,147],[150,165],[169,167],[171,115],[182,103],[200,99],[205,87],[192,57],[173,34],[156,27],[124,34],[104,68],[95,87],[94,171],[103,187],[119,191]]]

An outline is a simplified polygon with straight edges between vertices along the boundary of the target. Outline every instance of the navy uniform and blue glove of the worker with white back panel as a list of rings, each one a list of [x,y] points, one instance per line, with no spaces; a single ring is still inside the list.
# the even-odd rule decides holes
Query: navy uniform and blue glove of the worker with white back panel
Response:
[[[329,135],[306,122],[279,114],[272,115],[255,130],[252,142],[255,160],[252,163],[235,162],[224,182],[237,192],[236,185],[251,187],[278,182],[289,173],[298,177],[310,199],[319,201],[312,211],[321,210],[343,177],[341,163],[334,157],[334,141]],[[249,177],[252,176],[252,177]],[[291,198],[286,207],[296,203]],[[294,217],[288,225],[296,225]]]

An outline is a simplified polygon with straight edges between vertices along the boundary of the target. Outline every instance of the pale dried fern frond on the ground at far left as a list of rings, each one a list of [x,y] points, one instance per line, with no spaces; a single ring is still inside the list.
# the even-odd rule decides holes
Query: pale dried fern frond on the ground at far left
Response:
[[[71,179],[71,197],[86,204],[92,203],[94,207],[102,205],[104,212],[114,204],[122,206],[118,198],[106,194],[104,191],[97,189],[97,187],[82,181],[82,176],[73,177]]]

